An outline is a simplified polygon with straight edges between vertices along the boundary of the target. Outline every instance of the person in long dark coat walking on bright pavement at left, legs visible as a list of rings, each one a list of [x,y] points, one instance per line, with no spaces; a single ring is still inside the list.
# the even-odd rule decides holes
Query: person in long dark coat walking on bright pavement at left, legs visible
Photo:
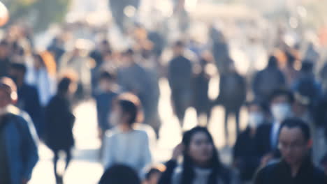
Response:
[[[59,151],[66,153],[65,171],[71,162],[71,148],[74,146],[73,124],[75,116],[71,109],[71,97],[76,90],[73,79],[64,77],[58,84],[57,94],[45,108],[45,143],[54,153],[54,175],[57,183],[62,183],[62,176],[57,173]]]

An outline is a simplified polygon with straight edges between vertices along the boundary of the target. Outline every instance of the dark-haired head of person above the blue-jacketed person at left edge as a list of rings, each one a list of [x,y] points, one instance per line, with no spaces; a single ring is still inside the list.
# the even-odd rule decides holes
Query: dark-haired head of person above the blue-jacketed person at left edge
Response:
[[[22,86],[27,68],[22,63],[11,63],[9,67],[9,76],[17,86]]]

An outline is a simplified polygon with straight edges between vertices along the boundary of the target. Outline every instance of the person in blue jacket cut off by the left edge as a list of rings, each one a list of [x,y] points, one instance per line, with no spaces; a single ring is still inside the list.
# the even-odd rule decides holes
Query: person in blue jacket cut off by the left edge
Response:
[[[28,183],[38,162],[37,135],[31,118],[14,107],[17,88],[0,78],[0,183]]]

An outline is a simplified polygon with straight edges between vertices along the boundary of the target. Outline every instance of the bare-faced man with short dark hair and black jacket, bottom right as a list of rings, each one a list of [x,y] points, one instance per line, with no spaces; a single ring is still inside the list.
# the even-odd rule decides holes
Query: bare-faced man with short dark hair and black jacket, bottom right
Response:
[[[314,166],[310,158],[312,140],[307,123],[286,119],[279,130],[278,148],[282,160],[261,169],[255,184],[327,183],[324,172]]]

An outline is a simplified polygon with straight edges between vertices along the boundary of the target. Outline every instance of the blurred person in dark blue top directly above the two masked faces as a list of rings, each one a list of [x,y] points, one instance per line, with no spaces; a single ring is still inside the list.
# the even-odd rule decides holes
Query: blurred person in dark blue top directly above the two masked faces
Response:
[[[273,91],[286,87],[284,74],[278,68],[275,56],[270,56],[268,66],[256,73],[252,81],[254,97],[263,102],[267,101]]]

